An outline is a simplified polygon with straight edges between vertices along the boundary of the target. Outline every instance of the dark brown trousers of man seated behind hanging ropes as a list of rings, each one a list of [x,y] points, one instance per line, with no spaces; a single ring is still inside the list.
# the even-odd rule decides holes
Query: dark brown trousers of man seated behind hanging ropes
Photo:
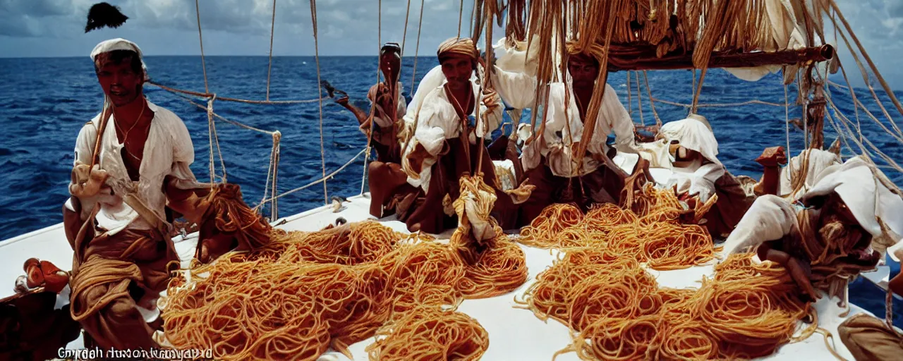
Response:
[[[577,203],[584,211],[593,203],[618,204],[627,174],[603,164],[599,169],[582,177],[565,178],[552,173],[543,157],[540,165],[527,171],[527,184],[535,185],[533,194],[520,208],[517,227],[524,227],[554,203]]]

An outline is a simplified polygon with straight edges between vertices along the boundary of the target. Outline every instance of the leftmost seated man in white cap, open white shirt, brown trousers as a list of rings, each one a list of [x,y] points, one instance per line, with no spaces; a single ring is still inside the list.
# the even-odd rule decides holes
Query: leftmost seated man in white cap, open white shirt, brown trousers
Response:
[[[156,347],[149,322],[179,258],[166,207],[200,224],[206,206],[189,165],[194,149],[179,116],[144,97],[134,42],[100,42],[91,60],[104,109],[79,132],[63,207],[74,253],[71,313],[102,348]],[[208,187],[209,188],[209,187]]]

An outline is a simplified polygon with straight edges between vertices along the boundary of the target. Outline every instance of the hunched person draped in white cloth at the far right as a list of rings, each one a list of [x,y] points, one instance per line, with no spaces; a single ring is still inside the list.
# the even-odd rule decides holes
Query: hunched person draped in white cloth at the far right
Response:
[[[860,157],[822,173],[812,190],[791,203],[756,199],[724,243],[723,255],[756,251],[784,264],[813,299],[828,292],[845,302],[847,282],[873,269],[887,245],[903,234],[903,199],[892,183]]]

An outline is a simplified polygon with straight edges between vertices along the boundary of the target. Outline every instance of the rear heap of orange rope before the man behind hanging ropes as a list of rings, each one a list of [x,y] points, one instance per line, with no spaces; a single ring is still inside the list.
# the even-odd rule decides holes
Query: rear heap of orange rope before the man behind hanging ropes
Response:
[[[554,204],[521,231],[518,242],[541,248],[605,247],[656,270],[712,261],[712,236],[704,227],[681,224],[684,209],[673,191],[646,188],[633,202],[632,209],[604,204],[585,215],[573,204]]]

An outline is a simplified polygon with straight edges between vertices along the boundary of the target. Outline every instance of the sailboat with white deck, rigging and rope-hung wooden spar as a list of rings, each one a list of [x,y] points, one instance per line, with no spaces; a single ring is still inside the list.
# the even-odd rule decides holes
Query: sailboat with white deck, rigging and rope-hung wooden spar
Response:
[[[315,9],[315,0],[312,0],[311,3],[312,9]],[[811,99],[809,95],[815,88],[829,87],[828,73],[839,64],[836,49],[825,39],[824,19],[829,19],[839,32],[853,36],[849,24],[842,18],[842,14],[833,0],[731,0],[731,2],[721,0],[701,2],[684,0],[623,0],[619,2],[477,0],[474,8],[473,28],[471,29],[474,39],[480,39],[481,32],[484,32],[485,28],[486,33],[482,35],[491,40],[493,22],[498,20],[501,23],[503,19],[507,19],[506,38],[496,44],[492,44],[488,40],[485,47],[486,56],[492,57],[495,51],[498,52],[498,63],[517,64],[518,61],[534,61],[536,65],[532,69],[522,67],[525,69],[520,70],[534,71],[541,84],[547,84],[555,79],[563,79],[565,71],[561,59],[565,57],[564,39],[566,36],[570,37],[575,34],[579,34],[578,46],[604,54],[603,59],[607,61],[607,71],[604,73],[630,71],[636,77],[642,75],[645,78],[647,70],[701,69],[702,76],[698,79],[698,87],[695,88],[694,102],[689,105],[691,112],[699,106],[697,101],[699,93],[702,91],[705,71],[715,68],[728,69],[738,78],[749,81],[761,79],[770,72],[781,71],[785,78],[785,84],[797,83],[800,94],[804,95],[799,98],[806,106]],[[506,8],[507,14],[503,12],[503,9]],[[749,17],[746,17],[747,14]],[[464,14],[459,15],[461,18]],[[593,23],[593,19],[598,22]],[[764,25],[765,28],[757,28],[757,25]],[[606,26],[607,30],[604,30]],[[748,30],[756,30],[757,36],[744,35]],[[864,54],[859,42],[855,41],[854,37],[852,39],[855,45],[848,42],[848,49],[854,54]],[[531,49],[533,49],[532,52]],[[533,59],[528,60],[531,57]],[[857,61],[859,60],[857,59]],[[870,60],[867,62],[870,70],[878,75],[877,69],[874,69]],[[604,81],[606,78],[603,75],[601,79]],[[824,81],[818,83],[813,79],[823,79]],[[903,115],[903,106],[894,97],[887,83],[880,79],[880,76],[877,79],[879,79],[880,87],[893,100],[898,112]],[[873,88],[870,79],[866,79],[866,81],[869,88]],[[849,82],[847,87],[852,89]],[[200,91],[165,89],[189,97],[209,100],[207,106],[196,105],[208,111],[211,125],[215,124],[217,120],[227,120],[221,117],[217,118],[218,115],[213,108],[213,95]],[[651,97],[647,99],[652,101]],[[228,97],[216,98],[216,101],[229,100]],[[241,101],[241,99],[231,100]],[[256,102],[265,104],[270,100],[267,98]],[[833,100],[830,97],[827,104],[833,106]],[[654,104],[651,106],[654,108]],[[537,128],[536,113],[533,112],[532,129]],[[519,110],[517,114],[519,114]],[[872,154],[877,156],[879,161],[886,162],[888,166],[903,171],[893,159],[881,153],[874,144],[861,142],[860,137],[854,134],[855,124],[849,118],[843,116],[839,110],[834,114],[837,118],[830,118],[830,125],[834,127],[837,134],[841,134],[844,140],[842,143],[849,148],[850,153]],[[587,118],[594,119],[595,116],[588,115]],[[520,117],[517,116],[516,123],[511,128],[519,130],[517,125],[519,121]],[[824,122],[824,119],[815,119],[815,121]],[[880,122],[878,119],[875,121]],[[660,122],[661,120],[659,120]],[[789,123],[789,119],[787,122]],[[808,122],[806,121],[805,124]],[[816,134],[821,132],[822,128],[821,125],[806,126],[807,144],[819,148],[824,145],[823,142],[813,141],[824,138],[820,138]],[[899,130],[894,128],[889,132],[899,134]],[[211,139],[214,139],[215,126],[211,126],[210,130]],[[323,177],[320,180],[279,193],[276,180],[280,139],[278,132],[268,133],[273,135],[273,152],[267,177],[266,197],[260,204],[269,205],[271,225],[285,231],[317,231],[323,227],[335,225],[340,220],[357,222],[373,219],[368,213],[369,195],[363,191],[358,196],[349,199],[333,199],[332,203],[334,204],[326,204],[320,208],[312,208],[299,214],[280,218],[277,211],[277,202],[280,197],[325,182],[338,171],[347,168],[352,161],[357,159],[357,156],[330,173],[327,173],[324,165]],[[520,133],[520,136],[528,137],[529,133]],[[591,132],[584,136],[591,137]],[[854,146],[858,146],[858,152],[853,148]],[[211,159],[214,157],[214,152],[215,147],[211,146]],[[369,153],[369,150],[365,149],[358,153],[358,156],[368,157]],[[214,164],[211,164],[212,166]],[[656,178],[667,175],[667,170],[652,171],[655,172]],[[363,190],[363,185],[361,190]],[[324,199],[329,200],[325,190]],[[409,233],[405,224],[398,222],[393,217],[378,219],[378,222],[397,232]],[[437,239],[448,239],[450,236],[451,232],[436,235]],[[0,280],[9,282],[9,287],[0,288],[0,299],[2,299],[0,304],[10,305],[23,297],[23,294],[14,293],[12,287],[13,280],[22,274],[22,261],[36,257],[53,264],[70,264],[73,253],[65,239],[62,225],[58,224],[0,242],[0,254],[3,255],[5,261],[8,261],[0,264]],[[182,233],[182,235],[174,236],[172,241],[182,264],[190,264],[195,256],[198,234]],[[570,329],[563,324],[537,319],[530,312],[512,307],[514,305],[512,297],[523,293],[532,282],[535,282],[537,274],[553,264],[561,253],[526,245],[521,245],[521,248],[526,254],[529,273],[528,281],[525,284],[509,294],[483,300],[463,301],[458,307],[459,311],[479,320],[479,323],[489,333],[490,346],[482,355],[482,359],[526,360],[548,359],[553,356],[557,356],[556,359],[578,359],[578,356],[573,353],[556,354],[562,347],[573,341]],[[876,273],[863,273],[862,275],[886,288],[889,273],[886,266],[882,267],[879,267],[879,271]],[[714,271],[713,264],[709,264],[675,271],[650,272],[656,273],[656,281],[660,285],[680,289],[697,287],[698,281],[703,279],[703,276],[711,276]],[[34,290],[29,294],[37,294],[41,291],[40,289]],[[62,306],[67,303],[68,297],[68,289],[61,292],[57,296],[57,305]],[[870,313],[853,304],[844,307],[828,297],[816,301],[813,307],[818,315],[818,326],[833,335],[837,334],[837,327],[843,320],[854,314]],[[354,356],[354,359],[367,359],[368,352],[365,348],[372,343],[373,338],[369,338],[350,345],[349,353]],[[83,348],[81,338],[71,341],[65,348],[70,350]],[[766,358],[780,360],[796,360],[801,357],[833,359],[834,352],[844,358],[852,359],[850,352],[839,340],[833,339],[833,342],[829,342],[828,338],[819,337],[810,337],[784,345],[777,349],[777,353]],[[60,355],[59,357],[64,356]],[[336,352],[327,352],[321,356],[321,359],[348,359],[348,357]]]

